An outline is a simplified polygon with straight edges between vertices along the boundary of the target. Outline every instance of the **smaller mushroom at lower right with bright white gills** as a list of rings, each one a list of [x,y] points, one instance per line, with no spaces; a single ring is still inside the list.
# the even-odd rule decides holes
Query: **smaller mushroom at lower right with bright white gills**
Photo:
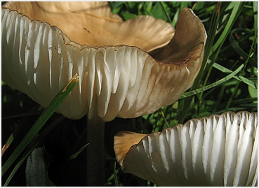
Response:
[[[257,118],[257,113],[226,112],[161,133],[120,131],[114,152],[124,173],[159,186],[255,186]]]

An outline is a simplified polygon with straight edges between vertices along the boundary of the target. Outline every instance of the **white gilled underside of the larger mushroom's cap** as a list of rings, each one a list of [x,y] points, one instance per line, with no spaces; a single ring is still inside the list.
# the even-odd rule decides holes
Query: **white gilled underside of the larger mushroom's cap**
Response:
[[[73,119],[91,118],[94,110],[105,121],[153,113],[175,102],[200,68],[194,65],[201,59],[161,66],[135,47],[81,46],[57,27],[8,9],[1,27],[2,80],[42,106],[79,72],[79,85],[58,108]]]

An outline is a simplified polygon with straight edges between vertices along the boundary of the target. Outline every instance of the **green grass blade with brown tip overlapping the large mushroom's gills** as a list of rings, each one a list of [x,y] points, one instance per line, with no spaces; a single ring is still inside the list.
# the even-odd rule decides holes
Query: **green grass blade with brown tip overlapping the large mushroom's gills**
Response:
[[[6,173],[8,168],[13,164],[15,159],[17,159],[23,150],[25,150],[25,147],[29,145],[29,143],[32,141],[34,136],[36,136],[36,133],[39,132],[39,130],[44,126],[44,124],[47,122],[47,120],[53,115],[55,110],[58,109],[58,106],[64,101],[64,99],[67,97],[67,95],[72,91],[72,89],[77,85],[79,82],[79,76],[78,73],[74,75],[72,80],[70,80],[65,87],[63,87],[60,92],[54,97],[54,99],[51,101],[51,103],[48,105],[48,107],[44,110],[44,112],[41,114],[38,120],[34,123],[32,128],[28,131],[26,136],[22,139],[21,143],[18,145],[18,147],[15,148],[13,153],[11,154],[11,157],[8,158],[6,163],[1,169],[2,176]]]

